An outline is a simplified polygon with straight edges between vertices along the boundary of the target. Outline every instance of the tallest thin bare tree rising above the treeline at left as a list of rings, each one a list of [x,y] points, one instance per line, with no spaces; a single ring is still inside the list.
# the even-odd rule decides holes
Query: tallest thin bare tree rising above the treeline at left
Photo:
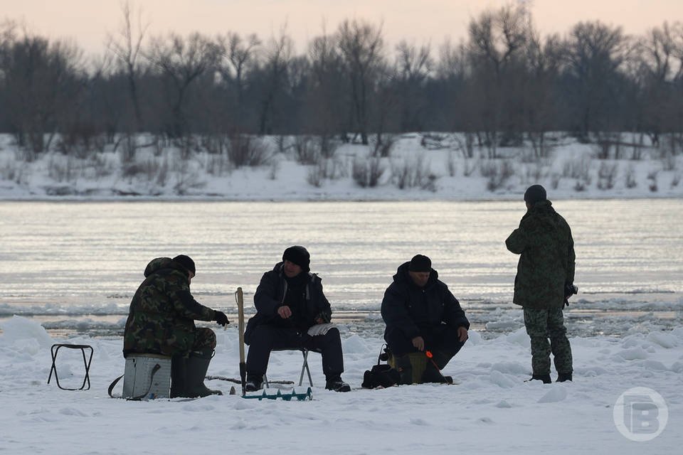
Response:
[[[139,57],[142,50],[142,41],[147,33],[149,23],[142,24],[142,9],[133,17],[130,1],[121,4],[123,22],[117,34],[107,34],[107,48],[114,53],[120,65],[125,68],[128,82],[128,94],[133,105],[135,124],[133,131],[138,131],[142,126],[142,113],[137,89],[139,73]]]

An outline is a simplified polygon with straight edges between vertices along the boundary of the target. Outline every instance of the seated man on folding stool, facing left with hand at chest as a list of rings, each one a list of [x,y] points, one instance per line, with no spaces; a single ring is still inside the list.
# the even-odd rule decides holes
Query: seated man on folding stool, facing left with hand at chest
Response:
[[[332,310],[317,274],[309,273],[310,255],[305,247],[287,248],[282,262],[265,272],[254,294],[256,314],[244,332],[249,345],[245,391],[261,388],[273,349],[307,348],[322,353],[325,388],[351,390],[342,381],[344,360],[339,330],[329,323]],[[316,330],[318,329],[318,330]]]

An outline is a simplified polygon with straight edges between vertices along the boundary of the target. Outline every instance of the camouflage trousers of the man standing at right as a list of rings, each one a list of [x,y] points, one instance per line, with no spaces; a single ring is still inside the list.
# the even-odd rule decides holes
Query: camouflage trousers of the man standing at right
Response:
[[[524,326],[531,338],[531,368],[534,375],[550,374],[550,353],[553,353],[557,373],[572,372],[571,346],[562,309],[525,308]]]

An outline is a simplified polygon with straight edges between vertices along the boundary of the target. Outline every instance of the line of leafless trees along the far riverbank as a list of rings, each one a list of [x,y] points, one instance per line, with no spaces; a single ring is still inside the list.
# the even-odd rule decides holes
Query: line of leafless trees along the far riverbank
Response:
[[[139,132],[216,153],[245,134],[312,135],[327,154],[332,141],[379,149],[388,133],[425,131],[466,132],[468,149],[489,159],[523,142],[543,157],[551,131],[583,141],[635,132],[655,144],[665,135],[672,153],[683,147],[682,23],[627,36],[586,22],[541,37],[529,11],[507,6],[436,50],[390,49],[381,24],[354,19],[297,55],[286,28],[268,40],[147,36],[141,18],[122,5],[94,64],[74,43],[0,23],[0,132],[28,158],[55,142],[78,154],[122,137],[134,155]]]

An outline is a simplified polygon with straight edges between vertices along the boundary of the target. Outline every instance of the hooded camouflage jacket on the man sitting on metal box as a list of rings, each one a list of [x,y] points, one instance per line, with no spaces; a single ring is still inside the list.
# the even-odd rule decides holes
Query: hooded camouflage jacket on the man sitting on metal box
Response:
[[[194,320],[213,321],[216,311],[190,294],[186,270],[169,257],[158,257],[144,269],[123,336],[123,355],[189,353],[196,332]]]

